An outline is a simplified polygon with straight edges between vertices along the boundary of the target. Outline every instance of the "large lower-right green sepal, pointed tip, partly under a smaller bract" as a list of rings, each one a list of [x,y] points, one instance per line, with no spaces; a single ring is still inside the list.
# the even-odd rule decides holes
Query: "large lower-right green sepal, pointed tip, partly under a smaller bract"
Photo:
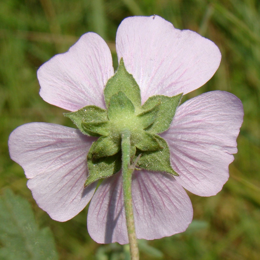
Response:
[[[141,157],[137,162],[137,166],[151,171],[162,171],[170,173],[173,176],[179,174],[172,169],[170,162],[170,150],[166,141],[159,135],[154,135],[158,143],[163,147],[158,151],[140,151],[137,150],[135,158],[141,153]]]

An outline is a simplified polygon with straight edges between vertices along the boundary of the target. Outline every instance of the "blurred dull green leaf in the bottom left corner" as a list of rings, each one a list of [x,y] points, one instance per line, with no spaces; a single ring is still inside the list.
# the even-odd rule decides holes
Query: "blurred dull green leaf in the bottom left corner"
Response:
[[[27,200],[5,190],[0,198],[0,259],[56,260],[53,234],[39,229]]]

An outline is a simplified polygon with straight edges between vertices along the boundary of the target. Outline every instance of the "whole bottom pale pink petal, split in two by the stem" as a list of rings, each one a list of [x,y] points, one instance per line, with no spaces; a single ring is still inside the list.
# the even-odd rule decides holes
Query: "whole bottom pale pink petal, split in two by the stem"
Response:
[[[132,195],[137,238],[171,236],[185,231],[192,221],[191,201],[170,175],[136,171]],[[98,243],[128,243],[121,173],[106,179],[94,194],[88,231]]]

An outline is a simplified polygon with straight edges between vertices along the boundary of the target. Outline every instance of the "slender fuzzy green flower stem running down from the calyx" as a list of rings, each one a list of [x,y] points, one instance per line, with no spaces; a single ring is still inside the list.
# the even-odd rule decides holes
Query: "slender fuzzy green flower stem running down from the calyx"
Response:
[[[135,234],[132,203],[132,174],[135,167],[130,165],[130,136],[131,133],[128,129],[121,135],[123,191],[131,260],[138,260],[139,251]]]

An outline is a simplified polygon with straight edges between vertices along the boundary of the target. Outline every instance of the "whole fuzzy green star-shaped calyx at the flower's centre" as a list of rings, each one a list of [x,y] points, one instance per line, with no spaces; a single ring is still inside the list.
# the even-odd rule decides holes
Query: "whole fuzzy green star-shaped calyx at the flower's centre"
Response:
[[[125,129],[131,132],[131,161],[141,154],[137,168],[178,176],[171,167],[168,145],[158,133],[170,127],[182,94],[152,96],[141,106],[140,88],[121,59],[106,84],[104,97],[107,110],[86,106],[65,114],[83,134],[99,137],[87,155],[85,187],[121,169],[121,135]]]

